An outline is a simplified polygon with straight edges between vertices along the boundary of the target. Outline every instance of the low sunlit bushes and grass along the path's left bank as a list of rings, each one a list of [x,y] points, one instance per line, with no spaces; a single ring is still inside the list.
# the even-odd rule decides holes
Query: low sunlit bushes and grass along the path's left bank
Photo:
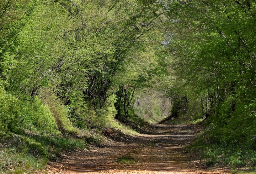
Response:
[[[47,161],[56,161],[62,153],[103,143],[105,127],[135,135],[144,125],[136,117],[126,122],[116,120],[114,95],[97,112],[90,103],[70,112],[70,106],[64,106],[49,90],[41,98],[22,100],[0,91],[0,99],[0,173],[43,171]]]

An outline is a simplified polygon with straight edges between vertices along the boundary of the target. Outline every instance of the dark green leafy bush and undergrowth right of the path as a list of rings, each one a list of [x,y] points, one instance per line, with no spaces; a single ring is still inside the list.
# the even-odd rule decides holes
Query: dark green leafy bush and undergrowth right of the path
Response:
[[[189,148],[196,150],[207,165],[222,163],[231,168],[255,170],[255,110],[245,100],[222,101],[204,123],[207,128]],[[248,102],[249,103],[249,102]]]

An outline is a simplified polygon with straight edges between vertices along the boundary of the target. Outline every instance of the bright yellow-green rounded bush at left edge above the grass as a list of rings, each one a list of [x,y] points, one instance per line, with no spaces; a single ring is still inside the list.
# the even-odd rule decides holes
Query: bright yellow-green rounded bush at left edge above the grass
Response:
[[[58,133],[57,124],[48,107],[37,97],[17,99],[0,89],[0,130],[17,132],[20,128]]]

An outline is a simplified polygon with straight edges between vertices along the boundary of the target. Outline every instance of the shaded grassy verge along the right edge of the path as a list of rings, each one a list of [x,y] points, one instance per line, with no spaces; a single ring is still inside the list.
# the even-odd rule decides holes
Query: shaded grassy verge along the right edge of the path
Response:
[[[214,143],[214,138],[206,138],[209,130],[201,132],[187,150],[201,159],[208,167],[228,166],[233,173],[256,172],[256,151],[250,144]]]

